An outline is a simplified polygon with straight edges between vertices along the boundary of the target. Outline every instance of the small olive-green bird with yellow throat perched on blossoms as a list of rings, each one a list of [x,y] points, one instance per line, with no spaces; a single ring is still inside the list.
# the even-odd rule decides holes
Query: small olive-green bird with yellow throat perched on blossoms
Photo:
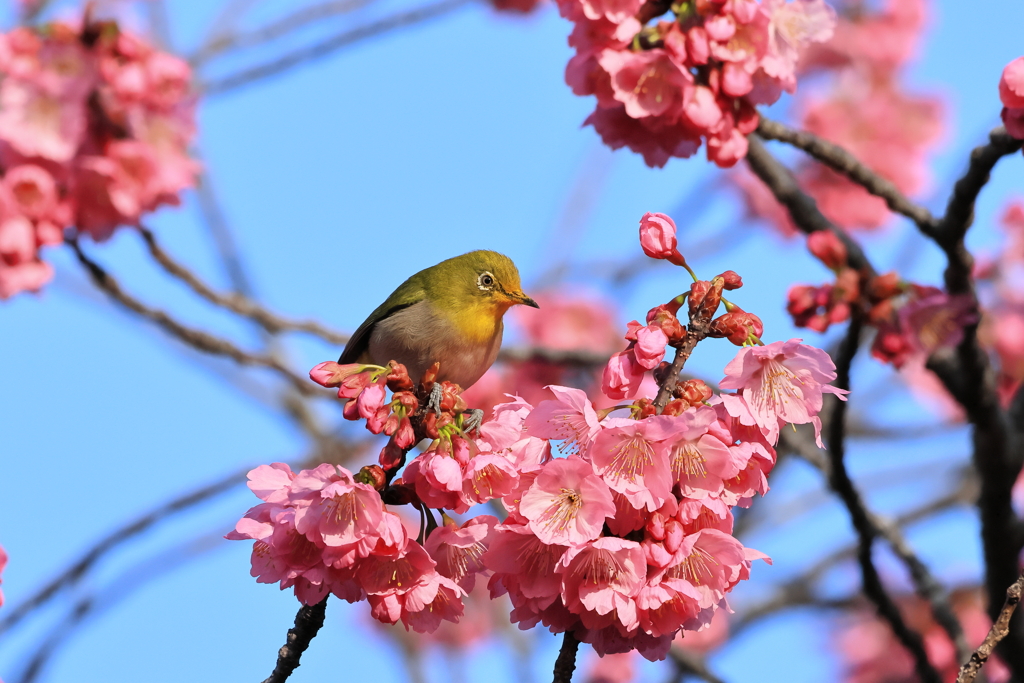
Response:
[[[352,334],[338,362],[395,360],[414,382],[438,362],[438,383],[468,389],[498,357],[502,318],[520,304],[540,308],[523,293],[508,256],[486,250],[456,256],[399,285]]]

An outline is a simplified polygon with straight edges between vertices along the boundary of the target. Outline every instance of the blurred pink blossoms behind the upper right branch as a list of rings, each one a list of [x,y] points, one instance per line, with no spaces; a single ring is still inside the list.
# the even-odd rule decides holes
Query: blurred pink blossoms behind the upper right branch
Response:
[[[942,134],[941,100],[908,92],[900,79],[926,24],[923,0],[848,4],[835,36],[809,47],[801,75],[822,74],[830,88],[797,102],[798,127],[836,142],[906,195],[928,182],[927,155]],[[891,213],[884,200],[831,169],[807,161],[797,168],[801,187],[828,218],[847,229],[874,229]],[[794,233],[788,215],[763,183],[736,178],[752,214]]]

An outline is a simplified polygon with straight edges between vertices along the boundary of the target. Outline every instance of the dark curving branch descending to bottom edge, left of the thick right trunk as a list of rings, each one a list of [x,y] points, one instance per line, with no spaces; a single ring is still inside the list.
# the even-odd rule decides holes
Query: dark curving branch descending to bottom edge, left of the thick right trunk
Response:
[[[835,384],[841,389],[849,389],[850,387],[850,367],[860,345],[861,329],[861,316],[859,313],[854,313],[851,316],[850,327],[843,344],[840,346],[839,357],[836,361],[837,378]],[[871,523],[863,500],[846,470],[845,417],[846,402],[834,401],[828,424],[828,456],[831,464],[829,484],[846,505],[850,513],[850,520],[857,531],[857,559],[860,564],[864,594],[874,603],[879,614],[889,624],[893,634],[913,656],[914,669],[921,680],[926,683],[941,683],[942,677],[928,659],[928,652],[925,650],[921,635],[910,629],[903,621],[899,607],[886,592],[879,570],[874,566],[871,548],[877,528]]]

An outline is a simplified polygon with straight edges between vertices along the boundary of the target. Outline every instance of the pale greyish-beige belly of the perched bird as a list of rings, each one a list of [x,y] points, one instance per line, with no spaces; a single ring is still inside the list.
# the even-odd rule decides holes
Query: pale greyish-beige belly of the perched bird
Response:
[[[435,361],[440,362],[437,379],[455,382],[466,389],[492,366],[501,345],[501,322],[490,339],[477,343],[465,339],[423,301],[375,325],[369,348],[374,364],[400,362],[414,381],[419,381]]]

